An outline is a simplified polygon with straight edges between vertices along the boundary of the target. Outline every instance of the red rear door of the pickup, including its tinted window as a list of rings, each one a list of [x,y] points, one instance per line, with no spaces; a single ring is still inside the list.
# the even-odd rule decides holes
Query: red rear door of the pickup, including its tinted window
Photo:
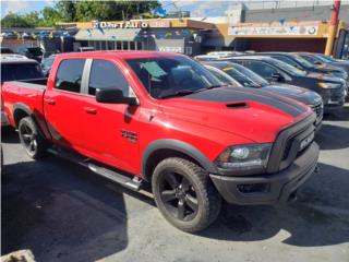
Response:
[[[55,143],[81,151],[85,130],[83,108],[85,96],[81,93],[85,59],[62,60],[55,86],[45,93],[44,111]]]

